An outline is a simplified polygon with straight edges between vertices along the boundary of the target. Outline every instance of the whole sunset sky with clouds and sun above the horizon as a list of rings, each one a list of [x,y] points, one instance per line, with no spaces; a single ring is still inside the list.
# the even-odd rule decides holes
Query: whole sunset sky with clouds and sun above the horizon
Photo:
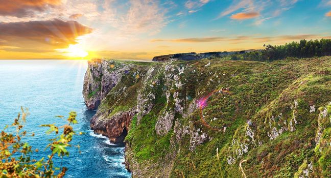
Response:
[[[0,59],[151,60],[331,38],[331,0],[0,0]]]

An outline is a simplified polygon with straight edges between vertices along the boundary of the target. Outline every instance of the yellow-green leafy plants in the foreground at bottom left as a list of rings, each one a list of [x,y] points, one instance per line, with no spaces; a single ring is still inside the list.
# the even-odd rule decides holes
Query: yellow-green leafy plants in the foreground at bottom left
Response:
[[[77,124],[76,113],[69,113],[68,118],[66,118],[67,124],[64,126],[42,125],[42,127],[49,127],[47,134],[55,133],[58,135],[59,132],[62,134],[51,139],[51,143],[46,146],[46,149],[50,150],[50,155],[40,160],[33,159],[33,153],[38,152],[38,150],[33,150],[28,142],[23,141],[24,137],[34,136],[34,133],[22,130],[26,117],[26,110],[21,108],[21,113],[15,118],[14,123],[1,132],[0,177],[63,177],[67,168],[62,166],[62,163],[55,165],[53,158],[58,156],[62,160],[69,155],[66,149],[73,146],[70,142],[76,133],[71,125]],[[58,117],[64,119],[63,116]],[[7,130],[13,130],[13,132]]]

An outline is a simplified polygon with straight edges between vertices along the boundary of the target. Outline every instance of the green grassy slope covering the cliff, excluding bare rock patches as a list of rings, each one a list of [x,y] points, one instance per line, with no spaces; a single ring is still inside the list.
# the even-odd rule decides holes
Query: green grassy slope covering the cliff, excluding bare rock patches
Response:
[[[134,160],[140,164],[141,169],[155,168],[154,171],[150,170],[147,176],[162,175],[163,172],[157,170],[164,166],[162,162],[172,164],[169,160],[171,155],[175,156],[169,168],[171,170],[168,170],[171,171],[171,177],[242,177],[239,168],[241,160],[247,160],[242,164],[247,177],[293,177],[302,172],[311,161],[314,161],[314,172],[317,176],[330,175],[328,171],[331,165],[325,154],[330,152],[330,149],[326,147],[321,153],[315,151],[318,108],[326,107],[331,101],[330,57],[302,60],[288,58],[272,63],[217,59],[173,62],[175,66],[186,66],[184,74],[180,76],[184,83],[181,88],[164,88],[163,79],[166,72],[162,64],[124,63],[132,63],[135,67],[130,74],[124,76],[121,84],[113,88],[100,108],[111,108],[113,112],[131,108],[137,102],[136,91],[146,84],[142,79],[144,73],[151,66],[156,69],[152,79],[147,81],[160,81],[156,87],[150,89],[156,94],[154,107],[141,119],[139,125],[137,117],[133,118],[126,138],[131,162]],[[208,63],[210,65],[207,65]],[[128,88],[125,95],[119,95],[118,91],[125,86]],[[174,107],[174,101],[167,103],[165,90],[186,96],[183,97],[186,98],[183,105],[188,105],[194,98],[199,99],[222,88],[226,88],[225,92],[212,94],[202,111],[205,123],[201,121],[199,109],[187,117],[175,115],[175,120],[182,126],[201,129],[200,133],[207,133],[212,137],[210,141],[197,146],[191,152],[188,146],[189,136],[184,136],[179,142],[172,142],[175,137],[174,129],[164,136],[156,134],[158,114],[164,109]],[[295,101],[298,105],[291,109]],[[312,105],[315,105],[316,111],[310,113]],[[293,124],[294,115],[297,125]],[[275,119],[272,120],[272,116]],[[293,132],[289,131],[291,121],[295,127]],[[250,126],[247,123],[250,123]],[[226,130],[223,134],[224,127]],[[267,133],[271,132],[272,128],[288,128],[288,131],[283,131],[270,140]],[[254,140],[247,136],[248,129],[254,131]],[[328,140],[329,130],[323,132],[322,141]],[[238,149],[241,149],[241,144],[244,143],[248,152],[238,157]],[[238,158],[229,165],[229,156]]]

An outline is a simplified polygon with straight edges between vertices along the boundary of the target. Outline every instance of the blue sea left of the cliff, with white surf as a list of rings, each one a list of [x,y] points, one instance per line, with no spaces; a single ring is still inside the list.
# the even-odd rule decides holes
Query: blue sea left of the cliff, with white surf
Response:
[[[124,145],[112,144],[90,130],[90,118],[96,111],[87,110],[82,97],[86,69],[86,61],[0,61],[0,130],[12,124],[21,106],[27,107],[30,114],[23,130],[35,136],[24,140],[39,149],[32,157],[40,159],[50,154],[44,148],[48,139],[54,138],[40,125],[61,126],[65,122],[56,115],[76,111],[79,124],[74,129],[85,134],[75,136],[72,142],[80,145],[81,153],[72,147],[69,157],[63,159],[63,166],[68,168],[65,177],[131,177],[122,164]],[[61,162],[58,157],[54,160],[58,165]]]

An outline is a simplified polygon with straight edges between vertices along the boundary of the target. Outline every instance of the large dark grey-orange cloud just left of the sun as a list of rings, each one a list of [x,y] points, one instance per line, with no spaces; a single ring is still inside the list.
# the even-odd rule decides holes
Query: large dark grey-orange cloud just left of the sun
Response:
[[[77,21],[59,19],[28,22],[0,23],[0,46],[11,50],[44,51],[76,44],[76,38],[92,32],[90,27]]]

